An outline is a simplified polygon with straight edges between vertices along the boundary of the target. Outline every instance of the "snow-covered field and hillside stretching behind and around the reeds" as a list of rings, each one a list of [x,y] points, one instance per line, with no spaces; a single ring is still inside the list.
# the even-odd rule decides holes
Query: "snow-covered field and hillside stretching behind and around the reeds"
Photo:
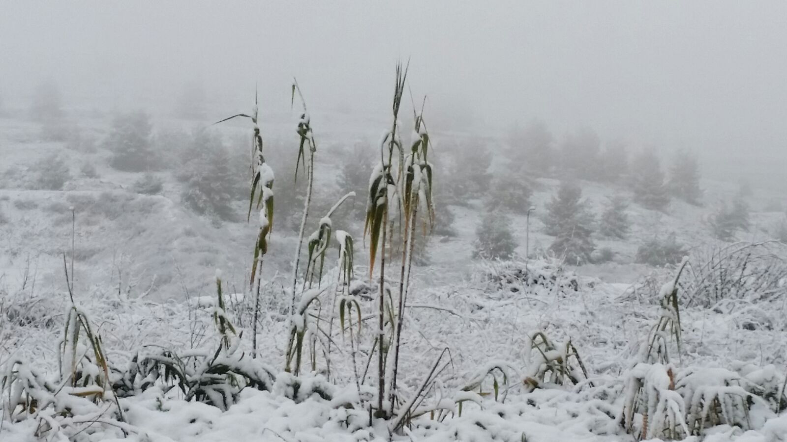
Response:
[[[104,127],[92,120],[83,131],[99,137]],[[717,271],[723,265],[704,267],[703,248],[715,241],[703,208],[677,202],[666,213],[630,208],[630,238],[674,231],[697,246],[678,284],[676,311],[663,304],[676,269],[631,264],[634,239],[600,241],[615,260],[594,266],[474,262],[480,203],[450,207],[457,236],[434,238],[430,264],[413,269],[401,402],[393,418],[382,419],[368,408],[376,394],[370,294],[376,289],[367,286],[364,265],[357,266],[352,294],[360,311],[349,311],[349,326],[336,319],[327,331],[320,323],[333,315],[331,289],[339,275],[332,262],[324,288],[307,292],[321,300],[307,310],[320,319],[310,322],[301,374],[286,373],[292,234],[272,236],[254,326],[255,299],[246,293],[254,223],[215,224],[188,212],[172,177],[160,195],[135,193],[139,176],[109,168],[101,147],[66,157],[75,175],[90,162],[97,177],[73,179],[64,190],[28,189],[23,181],[33,176],[35,162],[64,150],[62,143],[36,141],[38,131],[33,123],[0,120],[3,442],[787,440],[787,273],[780,273],[781,260],[766,260],[784,250],[715,245],[751,251],[752,260],[730,267],[737,278]],[[345,136],[324,134],[323,144]],[[291,140],[297,142],[294,133]],[[332,182],[330,150],[323,157],[317,181]],[[557,182],[539,184],[533,200],[541,211]],[[710,199],[734,191],[704,184]],[[593,183],[583,190],[594,207],[623,192]],[[771,224],[783,216],[758,210],[767,198],[752,203],[747,241],[769,238]],[[523,256],[525,221],[513,219]],[[551,241],[542,227],[537,214],[531,250]],[[365,263],[361,232],[351,233],[356,263]],[[72,252],[73,300],[63,271],[64,253],[70,260]],[[216,268],[224,273],[223,309]],[[764,281],[767,287],[758,285]],[[235,333],[222,332],[218,318]],[[87,326],[100,336],[98,344],[86,344]],[[79,337],[74,330],[82,330]],[[76,379],[81,383],[72,385]],[[201,384],[205,379],[209,386]],[[412,398],[419,400],[407,407]]]

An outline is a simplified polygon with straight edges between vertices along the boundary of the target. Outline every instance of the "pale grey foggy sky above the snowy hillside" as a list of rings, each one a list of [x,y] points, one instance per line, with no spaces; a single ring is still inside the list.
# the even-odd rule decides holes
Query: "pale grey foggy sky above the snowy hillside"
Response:
[[[402,59],[427,112],[467,131],[591,127],[773,185],[785,24],[783,2],[4,2],[0,94],[52,79],[71,105],[150,107],[190,83],[237,109],[257,84],[278,112],[297,76],[312,109],[384,116]]]

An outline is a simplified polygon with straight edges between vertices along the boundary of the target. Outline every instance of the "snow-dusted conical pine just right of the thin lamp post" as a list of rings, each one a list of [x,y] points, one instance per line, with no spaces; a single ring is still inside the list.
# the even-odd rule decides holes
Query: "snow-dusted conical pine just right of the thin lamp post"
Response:
[[[596,245],[590,238],[593,214],[582,201],[582,189],[574,182],[561,182],[546,208],[546,231],[556,237],[549,251],[568,263],[588,263]]]

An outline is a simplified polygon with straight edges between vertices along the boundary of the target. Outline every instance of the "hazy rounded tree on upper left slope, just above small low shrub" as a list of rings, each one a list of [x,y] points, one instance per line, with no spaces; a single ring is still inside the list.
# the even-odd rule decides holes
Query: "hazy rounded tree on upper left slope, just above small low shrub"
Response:
[[[150,116],[131,112],[115,117],[104,145],[113,153],[109,164],[120,171],[147,171],[157,167]]]

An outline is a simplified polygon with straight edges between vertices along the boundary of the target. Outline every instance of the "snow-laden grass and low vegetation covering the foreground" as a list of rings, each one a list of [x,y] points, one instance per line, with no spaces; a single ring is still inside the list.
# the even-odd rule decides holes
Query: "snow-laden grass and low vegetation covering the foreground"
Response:
[[[337,277],[334,271],[324,276],[326,281]],[[183,390],[168,386],[176,381],[162,376],[144,391],[120,394],[123,422],[106,394],[96,400],[71,394],[66,408],[28,411],[32,418],[20,420],[20,408],[16,418],[8,410],[12,389],[3,393],[0,437],[14,442],[37,440],[36,434],[46,440],[57,440],[57,434],[72,440],[388,440],[388,423],[372,418],[370,424],[369,410],[359,408],[360,396],[373,396],[375,389],[371,381],[357,388],[346,331],[334,336],[330,377],[322,359],[316,371],[277,374],[286,357],[288,300],[276,286],[265,285],[257,362],[249,362],[253,300],[225,297],[221,315],[237,333],[231,354],[273,367],[275,377],[262,390],[242,389],[227,411],[206,400],[187,400]],[[362,311],[374,311],[374,300],[363,294],[368,288],[360,282],[353,288]],[[157,304],[77,293],[75,302],[101,335],[114,385],[135,356],[168,351],[181,358],[210,357],[221,345],[214,324],[217,303],[204,299]],[[777,414],[784,380],[777,366],[784,364],[781,336],[787,324],[781,301],[760,302],[773,311],[770,330],[744,328],[745,316],[681,306],[682,355],[678,360],[668,339],[672,358],[662,365],[645,363],[641,356],[663,315],[657,305],[557,263],[490,263],[463,282],[429,288],[416,279],[403,329],[400,388],[418,389],[442,348],[449,348],[451,364],[414,407],[409,425],[393,437],[667,440],[673,435],[690,440],[700,433],[707,440],[779,440],[787,422]],[[3,305],[0,361],[6,370],[10,360],[24,361],[57,386],[67,294],[22,290],[3,295]],[[83,352],[91,354],[80,348],[78,355]],[[563,363],[571,368],[563,372]]]

